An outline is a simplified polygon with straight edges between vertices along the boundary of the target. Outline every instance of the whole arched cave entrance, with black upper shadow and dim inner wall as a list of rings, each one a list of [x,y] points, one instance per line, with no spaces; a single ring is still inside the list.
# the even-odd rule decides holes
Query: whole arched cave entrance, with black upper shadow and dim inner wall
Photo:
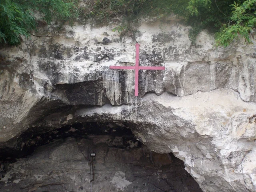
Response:
[[[2,163],[1,192],[202,191],[184,162],[172,153],[149,151],[124,122],[33,128],[18,144],[30,155]]]

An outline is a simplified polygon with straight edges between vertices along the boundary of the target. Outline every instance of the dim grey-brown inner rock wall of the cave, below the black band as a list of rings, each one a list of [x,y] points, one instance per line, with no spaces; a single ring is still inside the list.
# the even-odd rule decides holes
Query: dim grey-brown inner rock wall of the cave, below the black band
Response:
[[[126,140],[126,142],[129,142]],[[200,192],[183,162],[169,154],[149,152],[122,137],[91,136],[56,140],[29,158],[10,164],[0,180],[1,192],[92,191]]]

